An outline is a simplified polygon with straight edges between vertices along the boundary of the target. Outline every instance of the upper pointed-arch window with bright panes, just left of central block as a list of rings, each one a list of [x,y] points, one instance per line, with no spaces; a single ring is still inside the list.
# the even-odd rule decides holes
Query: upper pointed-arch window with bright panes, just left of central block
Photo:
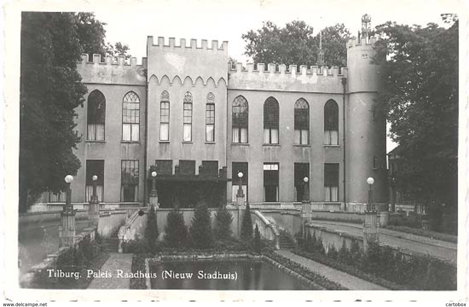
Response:
[[[122,140],[138,142],[140,138],[140,99],[128,92],[122,100]]]

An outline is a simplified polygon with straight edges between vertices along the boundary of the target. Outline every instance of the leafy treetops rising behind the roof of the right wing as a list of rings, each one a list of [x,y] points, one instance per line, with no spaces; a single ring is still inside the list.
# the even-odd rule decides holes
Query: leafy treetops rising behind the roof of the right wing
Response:
[[[245,54],[257,63],[285,65],[316,65],[319,53],[319,32],[313,35],[313,27],[304,21],[292,21],[284,28],[265,22],[261,29],[242,35],[246,41]],[[322,30],[322,46],[325,65],[347,66],[346,43],[350,32],[343,24]],[[299,68],[299,66],[298,66]]]

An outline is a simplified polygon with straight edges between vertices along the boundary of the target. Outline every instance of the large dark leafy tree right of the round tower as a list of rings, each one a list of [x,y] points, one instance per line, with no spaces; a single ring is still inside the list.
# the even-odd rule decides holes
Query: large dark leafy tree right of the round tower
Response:
[[[395,177],[418,201],[446,203],[456,211],[458,149],[458,33],[448,28],[387,22],[376,27],[384,77],[381,106],[408,169]],[[386,59],[387,58],[387,59]]]

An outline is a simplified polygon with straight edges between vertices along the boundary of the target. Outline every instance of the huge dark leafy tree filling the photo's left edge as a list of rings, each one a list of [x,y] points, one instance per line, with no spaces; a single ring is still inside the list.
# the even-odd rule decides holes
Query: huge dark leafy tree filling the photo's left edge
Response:
[[[76,71],[81,46],[71,13],[23,12],[20,77],[20,212],[44,191],[65,190],[81,163],[75,108],[87,92]]]

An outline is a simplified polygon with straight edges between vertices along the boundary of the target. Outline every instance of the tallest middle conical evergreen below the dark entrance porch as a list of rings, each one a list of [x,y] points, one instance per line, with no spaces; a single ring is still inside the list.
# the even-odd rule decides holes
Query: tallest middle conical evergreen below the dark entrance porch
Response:
[[[208,248],[213,243],[211,213],[204,201],[200,202],[194,211],[190,237],[193,246],[197,248]]]

